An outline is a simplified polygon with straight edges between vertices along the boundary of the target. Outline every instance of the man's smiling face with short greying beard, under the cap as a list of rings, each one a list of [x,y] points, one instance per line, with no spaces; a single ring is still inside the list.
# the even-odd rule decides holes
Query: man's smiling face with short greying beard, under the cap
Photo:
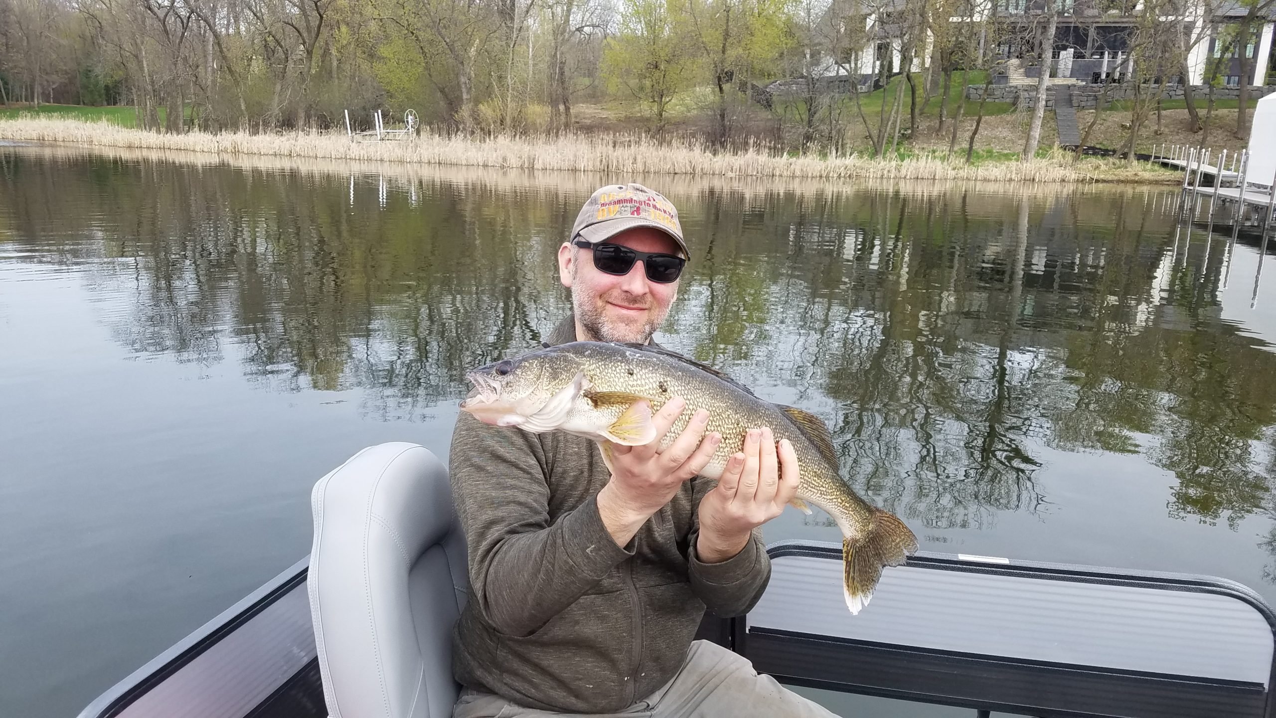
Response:
[[[671,236],[651,227],[625,230],[607,241],[638,252],[680,253]],[[567,243],[559,248],[559,280],[572,290],[577,322],[591,335],[587,339],[596,341],[646,344],[678,298],[678,282],[648,280],[642,261],[618,277],[593,266],[592,249]]]

